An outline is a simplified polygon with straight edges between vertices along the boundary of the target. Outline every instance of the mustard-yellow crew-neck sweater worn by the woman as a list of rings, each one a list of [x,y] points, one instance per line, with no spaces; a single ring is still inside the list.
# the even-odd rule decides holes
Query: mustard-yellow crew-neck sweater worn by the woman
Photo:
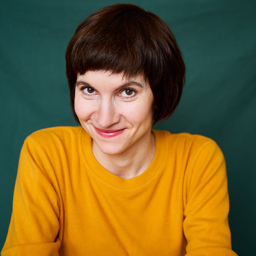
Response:
[[[26,138],[1,255],[236,255],[216,143],[153,132],[154,159],[129,180],[98,164],[81,127]]]

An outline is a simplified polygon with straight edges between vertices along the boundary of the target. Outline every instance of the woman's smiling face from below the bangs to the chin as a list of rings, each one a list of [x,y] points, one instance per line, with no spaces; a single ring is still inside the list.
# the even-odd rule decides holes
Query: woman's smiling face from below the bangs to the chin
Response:
[[[78,75],[74,109],[93,146],[105,154],[136,152],[150,140],[153,102],[143,76],[126,79],[109,71]]]

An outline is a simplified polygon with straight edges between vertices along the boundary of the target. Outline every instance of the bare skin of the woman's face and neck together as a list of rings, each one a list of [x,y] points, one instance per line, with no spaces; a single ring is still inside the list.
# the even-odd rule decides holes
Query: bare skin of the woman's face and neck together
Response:
[[[78,74],[74,109],[92,137],[92,151],[106,170],[133,178],[150,166],[154,97],[142,75],[126,79],[110,71]]]

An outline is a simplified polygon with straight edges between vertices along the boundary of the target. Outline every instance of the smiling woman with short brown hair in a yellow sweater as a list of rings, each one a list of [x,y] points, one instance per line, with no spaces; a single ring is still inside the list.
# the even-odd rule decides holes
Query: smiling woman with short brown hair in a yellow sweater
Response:
[[[1,255],[236,255],[216,143],[151,130],[185,78],[166,23],[131,4],[98,10],[68,44],[66,75],[81,126],[26,138]]]

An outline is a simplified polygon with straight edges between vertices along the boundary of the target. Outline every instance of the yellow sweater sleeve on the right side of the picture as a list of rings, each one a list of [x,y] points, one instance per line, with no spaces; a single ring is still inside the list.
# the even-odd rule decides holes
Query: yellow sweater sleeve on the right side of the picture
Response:
[[[186,256],[235,256],[228,225],[225,159],[212,140],[191,150],[185,174],[183,231]]]

